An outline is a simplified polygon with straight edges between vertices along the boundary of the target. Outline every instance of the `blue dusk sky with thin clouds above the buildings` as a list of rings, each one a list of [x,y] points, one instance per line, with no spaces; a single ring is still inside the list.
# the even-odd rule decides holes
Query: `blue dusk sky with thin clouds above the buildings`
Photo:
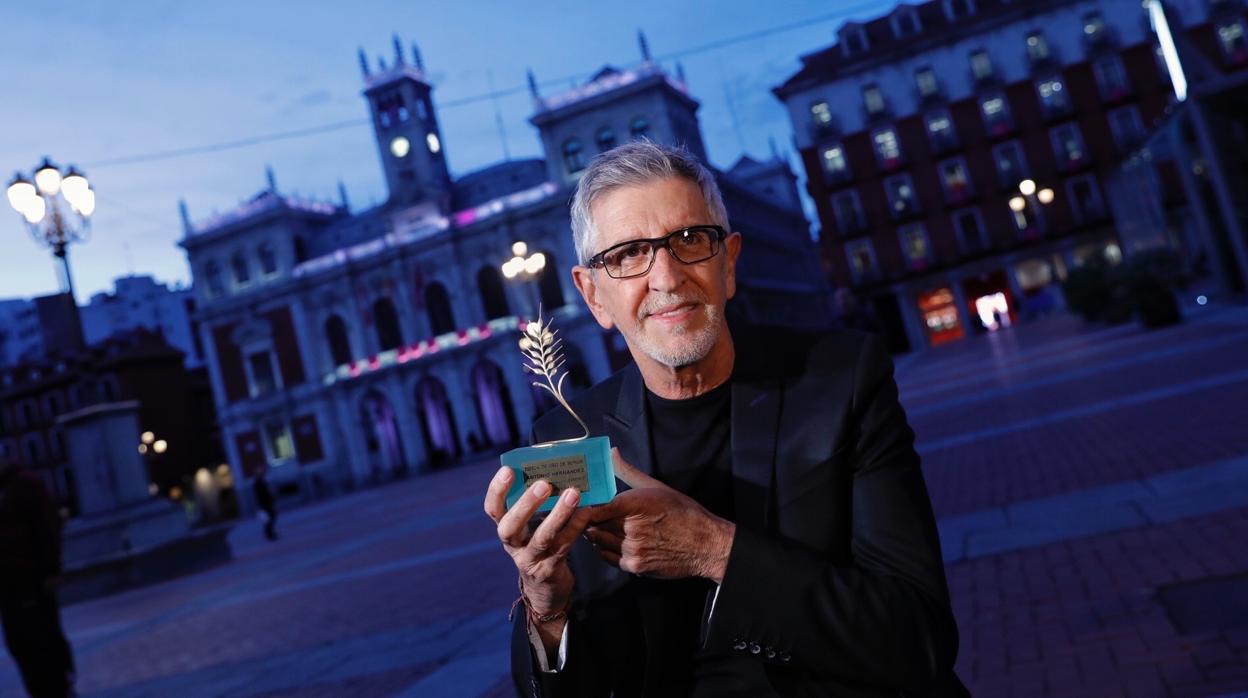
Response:
[[[116,276],[190,282],[177,200],[192,220],[265,186],[322,200],[347,187],[358,210],[384,197],[356,50],[393,60],[392,34],[421,47],[434,82],[452,172],[503,159],[492,91],[512,157],[540,155],[528,124],[525,69],[552,95],[605,64],[639,62],[636,31],[669,70],[684,64],[701,102],[711,162],[792,152],[770,89],[850,17],[892,2],[39,2],[6,4],[0,22],[0,174],[45,155],[76,164],[96,190],[92,237],[70,251],[80,301]],[[735,120],[733,112],[735,111]],[[265,139],[297,131],[312,135]],[[242,147],[206,146],[256,141]],[[191,155],[160,156],[187,149]],[[790,159],[797,167],[795,156]],[[0,298],[55,292],[51,255],[4,201]]]

